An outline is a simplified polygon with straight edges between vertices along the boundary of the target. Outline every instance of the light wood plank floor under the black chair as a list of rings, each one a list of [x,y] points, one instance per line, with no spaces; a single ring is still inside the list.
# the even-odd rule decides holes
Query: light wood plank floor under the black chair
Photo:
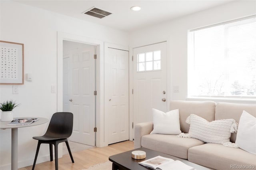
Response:
[[[111,155],[119,154],[121,152],[126,152],[132,149],[134,149],[134,142],[130,140],[111,144],[102,148],[94,147],[72,153],[75,163],[71,162],[69,154],[65,154],[62,158],[58,159],[58,168],[59,170],[86,169],[89,166],[106,162],[108,160],[108,157]],[[31,169],[32,166],[27,166],[24,168],[19,168],[18,170]],[[53,160],[52,162],[48,161],[36,164],[35,170],[55,170],[55,161]]]

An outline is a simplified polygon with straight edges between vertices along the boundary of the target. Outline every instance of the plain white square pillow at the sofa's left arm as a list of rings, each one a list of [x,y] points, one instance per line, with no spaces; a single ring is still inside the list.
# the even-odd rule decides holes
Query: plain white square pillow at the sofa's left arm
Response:
[[[152,109],[153,131],[150,134],[180,134],[180,113],[179,109],[164,113]]]

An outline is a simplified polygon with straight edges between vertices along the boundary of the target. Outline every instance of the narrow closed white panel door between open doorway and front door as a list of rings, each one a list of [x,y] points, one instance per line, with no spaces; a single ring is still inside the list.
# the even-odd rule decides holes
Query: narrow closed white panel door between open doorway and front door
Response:
[[[129,53],[107,48],[105,55],[105,114],[108,144],[129,139]]]

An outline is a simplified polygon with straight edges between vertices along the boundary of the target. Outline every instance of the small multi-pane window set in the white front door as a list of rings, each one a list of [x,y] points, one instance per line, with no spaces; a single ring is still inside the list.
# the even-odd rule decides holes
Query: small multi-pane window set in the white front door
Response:
[[[161,69],[161,51],[150,51],[137,55],[137,71],[152,71]]]

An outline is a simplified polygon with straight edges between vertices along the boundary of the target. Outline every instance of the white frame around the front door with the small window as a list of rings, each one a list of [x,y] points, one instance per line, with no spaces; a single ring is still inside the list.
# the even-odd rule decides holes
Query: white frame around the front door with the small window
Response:
[[[171,64],[171,57],[170,57],[170,40],[162,40],[162,41],[158,41],[158,42],[152,42],[152,43],[148,43],[148,44],[134,44],[130,47],[130,52],[129,52],[129,119],[130,119],[130,125],[133,124],[133,94],[132,94],[132,90],[133,90],[133,62],[137,62],[136,61],[136,56],[133,56],[133,49],[134,48],[138,48],[138,47],[144,47],[144,46],[148,46],[148,45],[153,45],[156,43],[162,43],[162,42],[166,42],[166,62],[167,62],[167,67],[166,67],[166,86],[167,86],[167,110],[170,110],[170,100],[171,100],[171,69],[170,67],[168,67],[168,64]],[[168,79],[168,77],[170,77]],[[130,140],[134,140],[134,126],[132,125],[130,126]]]

